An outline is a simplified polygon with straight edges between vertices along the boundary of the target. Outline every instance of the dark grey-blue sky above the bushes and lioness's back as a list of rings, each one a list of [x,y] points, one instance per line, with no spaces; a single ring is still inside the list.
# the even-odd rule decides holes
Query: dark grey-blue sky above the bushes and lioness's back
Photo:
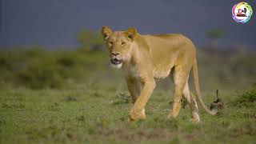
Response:
[[[79,30],[99,32],[137,28],[140,34],[180,33],[196,46],[209,44],[206,32],[224,32],[219,46],[256,49],[254,14],[245,24],[234,22],[237,0],[0,0],[0,47],[75,47]]]

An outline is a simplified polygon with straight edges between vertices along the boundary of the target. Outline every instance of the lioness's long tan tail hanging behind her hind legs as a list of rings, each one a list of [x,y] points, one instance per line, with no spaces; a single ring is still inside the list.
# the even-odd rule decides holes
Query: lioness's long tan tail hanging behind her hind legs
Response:
[[[192,66],[192,75],[194,78],[194,88],[196,91],[196,95],[197,98],[199,100],[199,102],[201,103],[202,107],[206,110],[207,113],[211,114],[211,115],[215,115],[217,114],[218,110],[209,110],[205,104],[205,102],[202,101],[202,95],[201,95],[201,91],[199,88],[199,80],[198,80],[198,64],[197,61],[194,60],[194,65]]]

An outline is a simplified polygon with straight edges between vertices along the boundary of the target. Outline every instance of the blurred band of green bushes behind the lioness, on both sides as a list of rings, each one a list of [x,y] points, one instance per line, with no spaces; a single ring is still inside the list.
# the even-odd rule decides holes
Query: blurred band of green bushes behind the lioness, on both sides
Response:
[[[101,40],[92,42],[101,46]],[[0,51],[0,85],[28,86],[31,88],[62,88],[71,83],[102,81],[116,76],[108,66],[107,52],[90,50],[85,47],[77,50],[30,49]],[[198,67],[202,89],[225,87],[242,89],[255,82],[255,54],[210,54],[198,51]],[[112,72],[112,74],[111,74]],[[119,72],[115,73],[119,74]],[[7,85],[6,85],[7,84]],[[162,85],[167,86],[168,85]]]

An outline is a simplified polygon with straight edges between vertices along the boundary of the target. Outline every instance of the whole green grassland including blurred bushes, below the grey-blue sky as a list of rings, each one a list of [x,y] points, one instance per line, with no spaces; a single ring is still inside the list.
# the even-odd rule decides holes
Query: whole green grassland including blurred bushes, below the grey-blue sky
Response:
[[[0,143],[256,143],[254,55],[198,54],[203,99],[209,104],[219,89],[226,108],[210,116],[199,106],[202,122],[194,124],[188,106],[167,119],[170,80],[157,82],[146,120],[127,122],[132,104],[122,74],[105,54],[76,54],[85,53],[0,55]]]

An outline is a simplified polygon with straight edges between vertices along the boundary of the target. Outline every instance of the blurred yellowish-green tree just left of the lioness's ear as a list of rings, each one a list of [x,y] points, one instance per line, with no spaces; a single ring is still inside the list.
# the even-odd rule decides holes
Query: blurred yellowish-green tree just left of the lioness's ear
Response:
[[[77,42],[80,48],[86,50],[102,50],[103,39],[100,34],[90,31],[81,30],[77,34]]]

